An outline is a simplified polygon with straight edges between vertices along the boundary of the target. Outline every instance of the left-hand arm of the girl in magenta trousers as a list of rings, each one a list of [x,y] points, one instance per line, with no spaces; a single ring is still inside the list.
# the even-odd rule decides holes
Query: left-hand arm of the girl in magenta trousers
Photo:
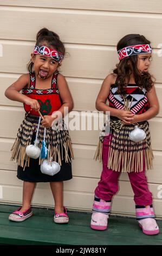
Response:
[[[111,84],[115,82],[116,77],[113,74],[108,75],[102,83],[102,87],[96,99],[96,109],[103,111],[105,114],[107,111],[113,117],[118,117],[124,124],[130,124],[134,114],[130,111],[122,109],[116,109],[106,105],[106,100],[110,92]]]

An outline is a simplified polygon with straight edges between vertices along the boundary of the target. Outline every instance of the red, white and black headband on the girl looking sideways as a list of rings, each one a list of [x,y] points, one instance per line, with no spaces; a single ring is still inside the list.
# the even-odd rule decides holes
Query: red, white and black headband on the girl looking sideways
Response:
[[[136,55],[136,54],[141,54],[141,53],[151,53],[152,48],[151,45],[130,45],[125,48],[122,48],[118,51],[118,57],[119,60]]]

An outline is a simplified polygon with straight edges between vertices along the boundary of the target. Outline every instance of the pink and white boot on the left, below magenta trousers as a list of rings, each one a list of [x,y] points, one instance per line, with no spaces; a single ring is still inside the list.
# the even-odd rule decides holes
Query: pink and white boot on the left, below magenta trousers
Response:
[[[90,222],[90,228],[96,230],[107,229],[108,214],[102,214],[102,212],[93,212]]]

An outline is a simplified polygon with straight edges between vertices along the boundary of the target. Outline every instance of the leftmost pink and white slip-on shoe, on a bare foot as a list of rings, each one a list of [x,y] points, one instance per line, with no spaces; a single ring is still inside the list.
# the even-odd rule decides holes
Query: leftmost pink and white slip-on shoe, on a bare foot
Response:
[[[17,221],[17,222],[25,221],[27,218],[33,215],[33,211],[31,210],[31,208],[23,212],[20,210],[21,210],[21,207],[18,208],[16,211],[12,212],[12,214],[9,215],[9,220]]]

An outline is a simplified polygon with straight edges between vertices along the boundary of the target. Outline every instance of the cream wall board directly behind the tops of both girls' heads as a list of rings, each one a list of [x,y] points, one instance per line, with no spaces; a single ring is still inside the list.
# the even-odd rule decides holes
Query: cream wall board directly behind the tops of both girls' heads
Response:
[[[144,34],[157,48],[162,39],[160,14],[0,5],[0,17],[3,39],[35,41],[36,32],[42,27],[55,30],[63,42],[73,44],[116,45],[125,34],[137,33]]]

